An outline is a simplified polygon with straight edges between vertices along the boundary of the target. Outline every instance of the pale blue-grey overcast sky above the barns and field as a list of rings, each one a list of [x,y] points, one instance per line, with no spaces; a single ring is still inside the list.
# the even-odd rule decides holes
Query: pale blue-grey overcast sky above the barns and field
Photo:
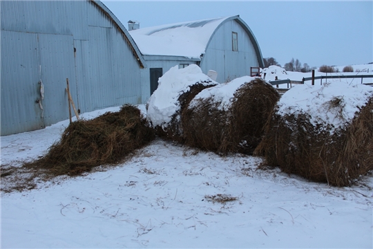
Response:
[[[281,66],[373,62],[373,1],[102,1],[128,28],[240,15]]]

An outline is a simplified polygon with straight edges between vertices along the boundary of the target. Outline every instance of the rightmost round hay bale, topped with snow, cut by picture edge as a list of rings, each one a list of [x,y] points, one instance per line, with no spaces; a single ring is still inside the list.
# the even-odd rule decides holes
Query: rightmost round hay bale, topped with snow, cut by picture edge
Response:
[[[298,85],[280,99],[255,154],[283,172],[338,187],[373,169],[373,89]]]

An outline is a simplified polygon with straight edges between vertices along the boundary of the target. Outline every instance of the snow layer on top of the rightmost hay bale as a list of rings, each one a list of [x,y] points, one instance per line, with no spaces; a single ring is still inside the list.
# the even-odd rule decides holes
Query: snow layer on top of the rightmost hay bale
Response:
[[[355,113],[372,96],[372,87],[330,82],[323,86],[306,84],[294,86],[278,102],[280,116],[309,115],[314,127],[330,129],[331,133],[352,122]]]

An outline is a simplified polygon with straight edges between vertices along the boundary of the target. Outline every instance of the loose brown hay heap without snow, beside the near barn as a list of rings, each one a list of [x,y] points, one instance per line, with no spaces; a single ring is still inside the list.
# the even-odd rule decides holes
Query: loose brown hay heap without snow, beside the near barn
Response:
[[[52,175],[78,175],[95,166],[119,163],[153,138],[140,109],[126,104],[118,112],[70,123],[45,156],[24,166],[48,169]]]

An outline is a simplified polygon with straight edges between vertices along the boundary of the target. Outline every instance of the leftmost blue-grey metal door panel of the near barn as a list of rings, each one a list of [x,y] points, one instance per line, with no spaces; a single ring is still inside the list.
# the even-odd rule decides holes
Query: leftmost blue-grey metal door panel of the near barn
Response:
[[[1,30],[1,136],[45,127],[37,35]]]

